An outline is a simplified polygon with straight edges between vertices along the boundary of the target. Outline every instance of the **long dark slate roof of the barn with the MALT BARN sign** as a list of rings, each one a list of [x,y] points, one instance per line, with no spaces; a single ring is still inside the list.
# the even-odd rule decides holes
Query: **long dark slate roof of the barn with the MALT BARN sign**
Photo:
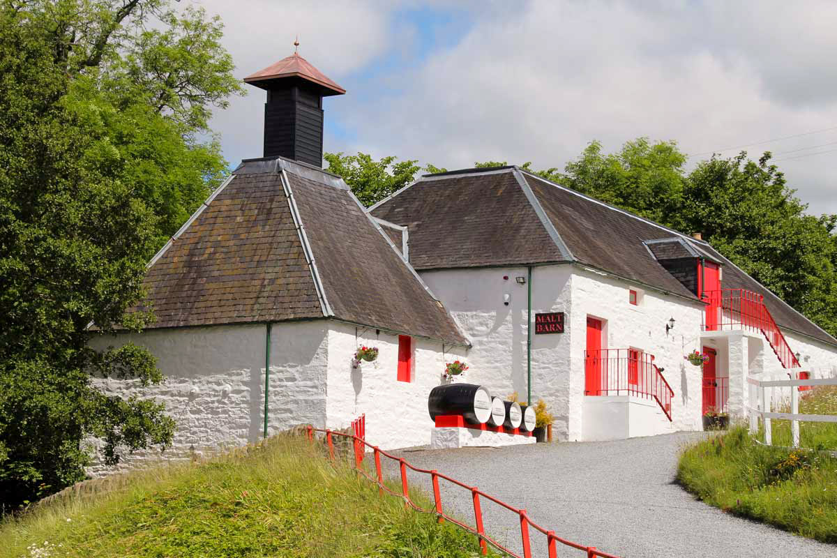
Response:
[[[426,175],[369,211],[408,227],[419,270],[583,264],[697,302],[657,259],[703,256],[723,264],[725,289],[763,294],[778,325],[837,345],[708,243],[516,167]]]

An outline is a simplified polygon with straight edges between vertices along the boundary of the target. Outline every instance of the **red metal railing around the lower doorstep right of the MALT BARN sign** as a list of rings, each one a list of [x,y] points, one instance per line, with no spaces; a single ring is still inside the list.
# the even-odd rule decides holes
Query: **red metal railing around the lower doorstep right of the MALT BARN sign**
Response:
[[[584,376],[584,395],[654,399],[671,420],[674,391],[654,364],[654,355],[635,349],[584,351]]]

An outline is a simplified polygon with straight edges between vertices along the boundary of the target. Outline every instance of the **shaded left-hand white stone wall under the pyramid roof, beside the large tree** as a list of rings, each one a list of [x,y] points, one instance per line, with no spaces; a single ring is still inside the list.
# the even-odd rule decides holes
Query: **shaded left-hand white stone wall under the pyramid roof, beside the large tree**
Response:
[[[265,325],[146,330],[100,335],[105,349],[131,341],[157,357],[166,381],[142,388],[139,381],[100,379],[105,392],[152,397],[177,422],[172,447],[126,456],[121,467],[156,458],[185,459],[255,442],[264,426]],[[269,432],[300,422],[323,424],[326,415],[326,320],[274,324],[271,332]],[[90,474],[109,474],[96,448]]]

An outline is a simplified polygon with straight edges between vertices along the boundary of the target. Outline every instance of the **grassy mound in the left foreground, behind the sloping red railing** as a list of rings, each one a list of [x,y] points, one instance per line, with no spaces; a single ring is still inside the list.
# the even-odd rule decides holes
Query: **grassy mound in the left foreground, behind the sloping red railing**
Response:
[[[149,468],[0,524],[0,558],[473,556],[474,535],[380,496],[303,438]],[[432,502],[411,494],[424,509]]]

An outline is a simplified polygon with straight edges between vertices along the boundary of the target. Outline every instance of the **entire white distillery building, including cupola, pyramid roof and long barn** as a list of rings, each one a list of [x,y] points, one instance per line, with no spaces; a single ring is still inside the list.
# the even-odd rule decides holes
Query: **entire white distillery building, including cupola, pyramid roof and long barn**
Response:
[[[151,260],[157,321],[92,341],[157,356],[167,381],[141,393],[177,421],[168,456],[362,414],[382,448],[429,443],[455,359],[495,395],[543,398],[558,440],[700,430],[754,404],[748,375],[834,374],[837,340],[708,243],[520,168],[425,176],[365,211],[319,168],[339,85],[298,55],[246,80],[268,90],[264,158]],[[379,357],[356,368],[362,345]]]

